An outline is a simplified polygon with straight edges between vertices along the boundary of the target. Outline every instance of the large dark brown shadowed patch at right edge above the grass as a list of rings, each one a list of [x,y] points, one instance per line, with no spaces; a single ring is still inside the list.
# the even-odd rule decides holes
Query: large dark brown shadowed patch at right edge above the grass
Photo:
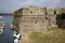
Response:
[[[65,14],[56,15],[56,25],[58,28],[65,28]]]

